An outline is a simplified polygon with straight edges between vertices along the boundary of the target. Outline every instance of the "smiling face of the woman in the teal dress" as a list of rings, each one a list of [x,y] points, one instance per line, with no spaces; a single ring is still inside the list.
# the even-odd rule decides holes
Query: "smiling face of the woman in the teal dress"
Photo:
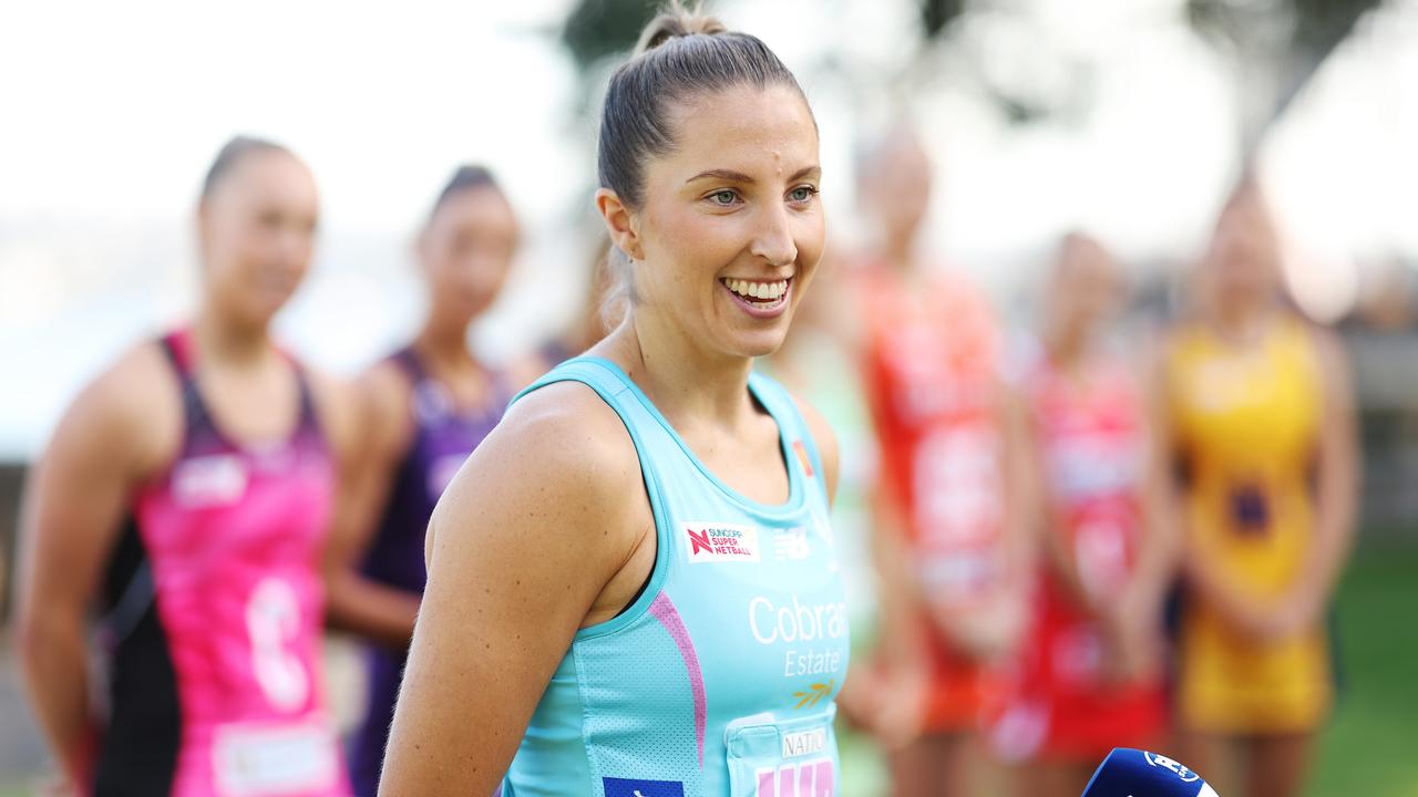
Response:
[[[641,309],[727,356],[776,350],[822,258],[817,128],[790,87],[736,87],[672,111],[675,147],[631,211]]]

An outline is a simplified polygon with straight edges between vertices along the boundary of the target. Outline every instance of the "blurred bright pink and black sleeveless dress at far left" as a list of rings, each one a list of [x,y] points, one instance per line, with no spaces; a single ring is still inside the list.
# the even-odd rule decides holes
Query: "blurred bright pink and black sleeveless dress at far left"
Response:
[[[320,679],[333,468],[305,377],[296,431],[240,445],[197,390],[187,333],[163,347],[183,444],[139,489],[109,564],[111,719],[94,793],[347,794]]]

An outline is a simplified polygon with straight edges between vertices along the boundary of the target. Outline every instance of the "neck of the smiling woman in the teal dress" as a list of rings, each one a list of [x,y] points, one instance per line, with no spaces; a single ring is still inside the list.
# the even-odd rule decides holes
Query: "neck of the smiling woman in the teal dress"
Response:
[[[732,427],[753,413],[747,390],[753,359],[710,352],[655,311],[631,311],[604,347],[672,424]]]

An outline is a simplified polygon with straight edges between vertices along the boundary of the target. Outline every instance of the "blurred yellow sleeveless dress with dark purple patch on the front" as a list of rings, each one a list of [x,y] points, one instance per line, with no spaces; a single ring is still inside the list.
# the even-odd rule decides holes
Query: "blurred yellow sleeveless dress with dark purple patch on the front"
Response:
[[[1310,332],[1282,318],[1242,350],[1204,326],[1184,326],[1167,369],[1188,465],[1185,533],[1256,600],[1283,594],[1313,545],[1322,377]],[[1288,733],[1316,728],[1329,712],[1322,627],[1258,644],[1236,640],[1207,606],[1188,601],[1180,647],[1178,706],[1193,728]]]

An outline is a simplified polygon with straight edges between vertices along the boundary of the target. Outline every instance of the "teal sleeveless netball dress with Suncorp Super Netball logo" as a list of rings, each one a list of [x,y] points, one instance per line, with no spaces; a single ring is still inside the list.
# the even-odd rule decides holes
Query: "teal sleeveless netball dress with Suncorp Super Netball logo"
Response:
[[[576,634],[503,796],[834,796],[847,607],[821,461],[793,398],[749,379],[791,485],[787,503],[764,505],[715,478],[614,363],[569,360],[518,398],[557,381],[590,386],[624,421],[658,549],[641,596]]]

